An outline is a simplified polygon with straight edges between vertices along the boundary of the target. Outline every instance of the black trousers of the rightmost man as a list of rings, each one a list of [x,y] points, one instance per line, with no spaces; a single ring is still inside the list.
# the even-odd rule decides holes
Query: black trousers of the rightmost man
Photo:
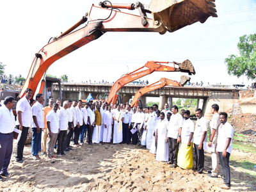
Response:
[[[225,185],[230,187],[230,167],[229,167],[229,157],[230,157],[230,153],[227,152],[227,156],[223,157],[222,156],[222,152],[218,152],[219,155],[219,159],[220,159],[220,164],[222,167],[222,171],[223,171],[223,181],[225,182]]]

